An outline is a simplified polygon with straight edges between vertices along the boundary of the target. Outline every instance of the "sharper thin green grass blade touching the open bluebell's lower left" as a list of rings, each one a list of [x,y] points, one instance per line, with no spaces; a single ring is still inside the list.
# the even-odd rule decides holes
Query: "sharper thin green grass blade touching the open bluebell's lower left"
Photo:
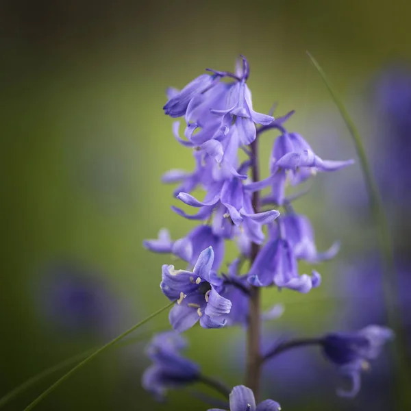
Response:
[[[112,347],[112,345],[118,343],[121,339],[125,338],[126,336],[128,336],[129,334],[131,334],[132,332],[134,332],[135,329],[137,329],[138,327],[140,327],[141,325],[147,323],[148,321],[150,321],[151,319],[153,319],[155,316],[157,316],[158,314],[160,314],[161,312],[167,310],[167,308],[170,308],[171,306],[173,306],[173,304],[175,303],[175,301],[172,301],[171,303],[167,304],[166,306],[164,306],[163,308],[160,308],[160,310],[154,312],[153,314],[149,315],[146,319],[140,321],[140,323],[133,325],[133,327],[127,329],[127,331],[123,332],[123,334],[117,336],[116,338],[114,338],[113,340],[111,340],[109,343],[103,345],[103,347],[100,347],[99,349],[97,349],[96,351],[94,351],[92,354],[90,354],[90,356],[88,356],[87,358],[85,358],[84,360],[82,360],[81,362],[79,362],[79,364],[77,364],[76,366],[74,366],[68,373],[64,374],[61,378],[59,378],[54,384],[52,384],[51,386],[49,386],[49,388],[47,388],[47,390],[45,390],[42,394],[40,394],[34,401],[32,401],[32,403],[29,403],[29,406],[27,406],[25,408],[24,411],[29,411],[32,410],[38,403],[40,403],[40,401],[42,401],[43,399],[45,399],[45,397],[47,397],[47,395],[49,395],[50,393],[53,392],[53,390],[55,390],[55,388],[58,388],[58,386],[60,384],[62,384],[62,382],[64,382],[66,379],[68,379],[69,377],[71,377],[71,375],[73,375],[76,371],[78,371],[79,369],[82,369],[86,364],[88,364],[88,362],[90,362],[92,359],[94,359],[95,357],[97,357],[99,355],[99,353],[105,351],[105,349],[108,349],[110,347]]]

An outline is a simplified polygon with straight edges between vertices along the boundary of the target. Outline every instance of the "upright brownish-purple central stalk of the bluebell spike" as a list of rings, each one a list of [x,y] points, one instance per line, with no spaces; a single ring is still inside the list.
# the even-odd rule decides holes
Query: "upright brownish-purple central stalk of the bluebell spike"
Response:
[[[251,143],[251,160],[253,165],[251,167],[251,178],[253,182],[258,182],[260,179],[260,170],[258,166],[258,137]],[[260,210],[260,193],[258,191],[253,193],[252,204],[254,212]],[[250,264],[256,260],[260,246],[258,244],[251,244]],[[249,324],[247,330],[247,362],[245,385],[251,388],[258,401],[260,396],[260,377],[261,377],[261,353],[260,353],[260,307],[261,307],[260,288],[251,286],[249,298]]]

